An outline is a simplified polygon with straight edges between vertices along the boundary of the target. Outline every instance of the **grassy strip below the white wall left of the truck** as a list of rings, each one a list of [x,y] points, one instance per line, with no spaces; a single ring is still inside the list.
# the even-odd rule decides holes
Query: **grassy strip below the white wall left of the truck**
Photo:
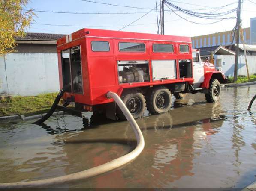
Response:
[[[50,109],[58,93],[40,94],[38,96],[14,96],[0,101],[0,116],[27,114],[36,115]]]

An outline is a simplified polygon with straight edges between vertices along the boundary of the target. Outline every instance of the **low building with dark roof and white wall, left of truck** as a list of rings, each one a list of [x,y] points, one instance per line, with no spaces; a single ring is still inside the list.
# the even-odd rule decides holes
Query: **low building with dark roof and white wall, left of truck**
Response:
[[[16,37],[16,52],[0,57],[0,94],[30,96],[59,91],[57,39],[61,34]]]

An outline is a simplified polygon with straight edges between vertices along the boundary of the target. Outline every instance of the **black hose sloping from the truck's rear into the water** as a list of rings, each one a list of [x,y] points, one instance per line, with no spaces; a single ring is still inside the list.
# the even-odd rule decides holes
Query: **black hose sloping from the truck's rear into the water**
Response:
[[[37,120],[36,122],[34,122],[33,124],[41,124],[43,123],[45,120],[47,120],[49,117],[51,117],[51,115],[53,114],[54,110],[56,109],[60,98],[63,96],[64,92],[67,91],[70,88],[70,83],[65,85],[64,88],[62,88],[59,92],[59,94],[57,95],[57,97],[54,100],[54,103],[51,106],[51,109],[47,112],[47,114],[45,114],[41,119]]]

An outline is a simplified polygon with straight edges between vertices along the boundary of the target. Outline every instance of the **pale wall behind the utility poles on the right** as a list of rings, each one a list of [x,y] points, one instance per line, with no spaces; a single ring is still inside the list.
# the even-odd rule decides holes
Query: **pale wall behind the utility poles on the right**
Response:
[[[234,75],[235,56],[215,55],[214,58],[215,65],[216,59],[221,59],[222,71],[225,73],[226,76],[232,77]],[[247,62],[250,75],[256,73],[256,56],[247,56]],[[244,55],[238,57],[238,75],[247,76]]]

